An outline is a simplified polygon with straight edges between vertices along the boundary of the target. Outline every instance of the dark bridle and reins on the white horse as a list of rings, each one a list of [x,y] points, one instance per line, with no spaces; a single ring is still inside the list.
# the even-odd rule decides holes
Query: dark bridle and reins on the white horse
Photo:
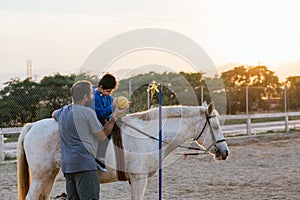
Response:
[[[187,146],[183,146],[183,145],[177,145],[177,147],[185,148],[185,149],[189,149],[189,150],[203,151],[203,154],[206,154],[206,153],[208,153],[208,152],[210,151],[210,149],[211,149],[212,147],[216,147],[216,145],[217,145],[218,143],[221,143],[221,142],[225,142],[225,141],[226,141],[225,139],[222,139],[222,140],[216,140],[216,137],[215,137],[215,135],[214,135],[214,130],[213,130],[213,128],[211,127],[211,124],[210,124],[209,119],[214,118],[214,117],[217,117],[217,116],[216,116],[216,115],[209,115],[207,112],[205,112],[205,116],[206,116],[206,117],[205,117],[205,118],[206,118],[205,124],[204,124],[204,126],[203,126],[201,132],[199,133],[199,135],[198,135],[196,138],[194,138],[194,141],[197,141],[197,140],[201,137],[201,135],[204,133],[204,130],[206,129],[206,127],[207,127],[207,125],[208,125],[208,126],[209,126],[209,132],[210,132],[210,134],[211,134],[213,143],[212,143],[211,145],[209,145],[209,147],[206,148],[206,149],[204,149],[204,148],[197,148],[197,147],[187,147]],[[122,123],[123,125],[128,126],[128,127],[132,128],[132,129],[134,129],[134,130],[140,132],[141,134],[143,134],[143,135],[149,137],[150,139],[159,141],[158,138],[153,137],[152,135],[149,135],[148,133],[146,133],[146,132],[144,132],[144,131],[142,131],[142,130],[140,130],[140,129],[138,129],[138,128],[136,128],[136,127],[134,127],[134,126],[132,126],[132,125],[130,125],[130,124],[128,124],[128,123],[126,123],[126,122],[124,122],[122,119],[119,119],[118,121],[119,121],[119,123]],[[164,144],[170,144],[170,143],[168,143],[168,142],[166,142],[166,141],[162,141],[162,143],[164,143]],[[186,155],[199,155],[199,153],[185,153],[185,154],[183,154],[183,155],[185,155],[185,156],[186,156]]]

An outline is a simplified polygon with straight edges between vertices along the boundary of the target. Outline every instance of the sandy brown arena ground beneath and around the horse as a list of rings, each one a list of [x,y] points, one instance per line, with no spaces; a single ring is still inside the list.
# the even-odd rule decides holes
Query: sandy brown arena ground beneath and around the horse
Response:
[[[228,160],[176,153],[163,169],[163,199],[300,199],[300,133],[229,139]],[[17,199],[16,163],[0,164],[0,199]],[[57,178],[51,199],[65,192]],[[130,199],[129,184],[101,185],[101,199]],[[145,199],[158,199],[158,178],[152,177]]]

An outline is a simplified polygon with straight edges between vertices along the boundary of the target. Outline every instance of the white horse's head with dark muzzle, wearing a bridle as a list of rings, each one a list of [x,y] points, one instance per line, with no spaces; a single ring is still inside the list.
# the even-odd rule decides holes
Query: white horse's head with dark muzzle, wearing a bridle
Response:
[[[205,122],[199,123],[197,128],[196,142],[204,147],[207,152],[214,155],[216,160],[226,160],[229,155],[229,149],[224,138],[219,123],[219,114],[214,108],[214,104],[203,103],[200,115]]]

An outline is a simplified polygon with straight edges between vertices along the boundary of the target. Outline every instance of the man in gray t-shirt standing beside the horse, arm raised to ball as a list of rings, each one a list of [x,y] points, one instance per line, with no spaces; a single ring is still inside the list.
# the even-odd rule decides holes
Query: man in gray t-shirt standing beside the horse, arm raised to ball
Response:
[[[99,199],[100,185],[95,161],[99,139],[111,133],[115,120],[126,109],[115,111],[104,126],[89,108],[93,102],[92,85],[78,81],[72,86],[73,103],[53,112],[59,123],[62,172],[66,178],[68,199]]]

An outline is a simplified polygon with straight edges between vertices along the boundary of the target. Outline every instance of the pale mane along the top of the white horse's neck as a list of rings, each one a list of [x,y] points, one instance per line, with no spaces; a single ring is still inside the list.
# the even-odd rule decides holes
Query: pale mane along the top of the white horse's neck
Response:
[[[188,118],[204,113],[204,108],[201,106],[163,106],[162,118]],[[158,119],[159,109],[151,108],[147,111],[137,112],[126,115],[126,118],[139,119],[149,121]]]

